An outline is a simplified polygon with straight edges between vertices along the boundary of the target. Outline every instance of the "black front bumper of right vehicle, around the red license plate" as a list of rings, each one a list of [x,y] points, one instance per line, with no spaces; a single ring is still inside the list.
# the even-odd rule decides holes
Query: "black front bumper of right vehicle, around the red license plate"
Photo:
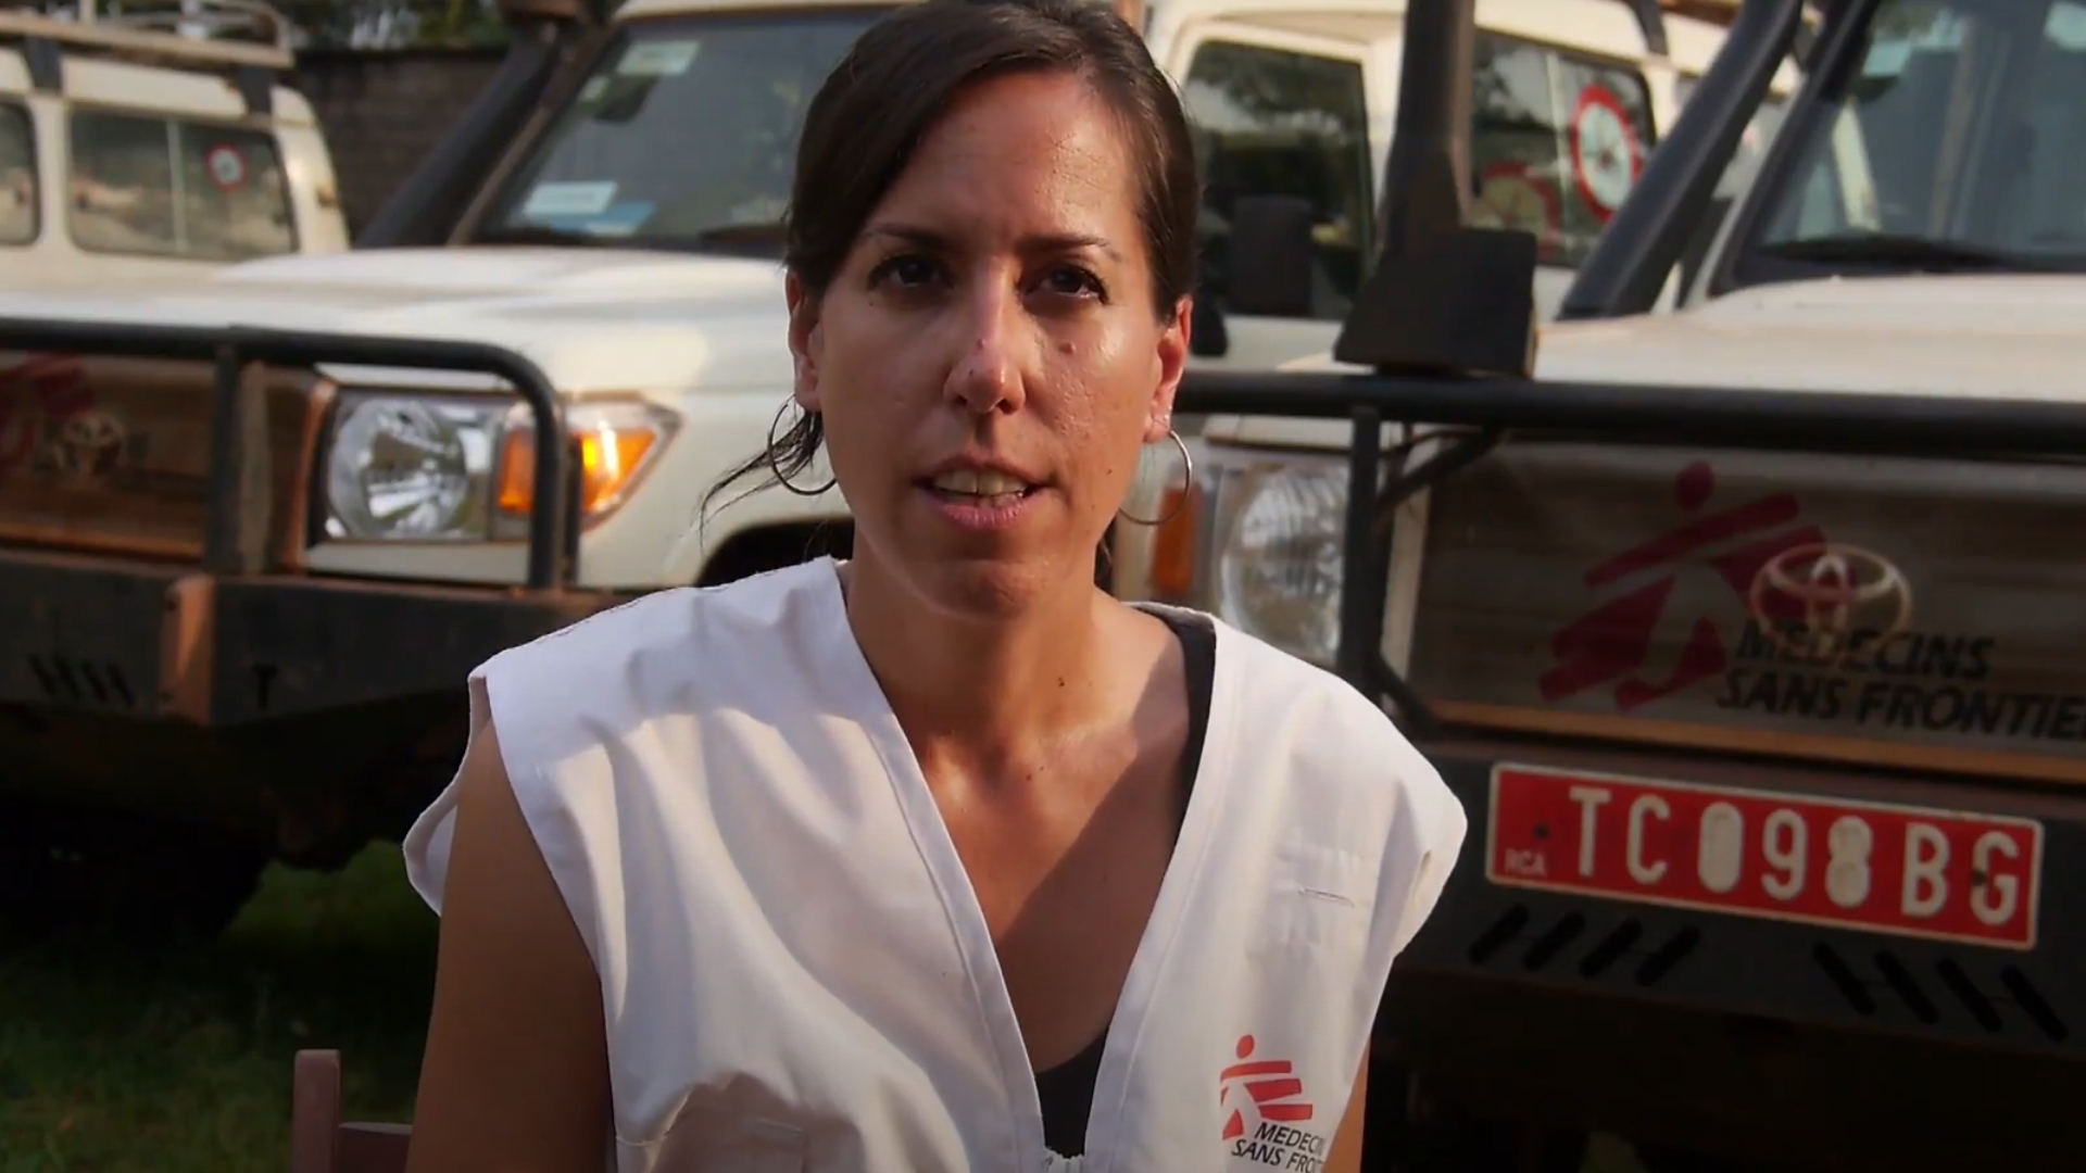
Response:
[[[1633,751],[1537,749],[1498,743],[1431,745],[1429,758],[1471,814],[1471,839],[1441,904],[1406,956],[1402,973],[1441,979],[1502,979],[1514,987],[1539,994],[1539,1002],[1556,1004],[1558,994],[1585,994],[1602,1000],[1656,1002],[1675,1010],[1708,1010],[1827,1029],[1852,1029],[1871,1035],[1892,1035],[1921,1044],[1969,1044],[1980,1050],[2017,1052],[2061,1062],[2086,1062],[2086,791],[2051,793],[2023,791],[1944,776],[1911,779],[1857,772],[1829,772],[1748,764],[1731,758],[1681,758]],[[1596,806],[1600,820],[1600,852],[1596,875],[1627,877],[1623,860],[1627,843],[1629,779],[1681,783],[1696,787],[1733,787],[1754,791],[1736,801],[1746,808],[1744,868],[1738,891],[1761,889],[1763,812],[1786,806],[1809,810],[1819,822],[1819,810],[1842,804],[1844,810],[1877,812],[1875,885],[1865,908],[1902,908],[1902,868],[1894,858],[1902,847],[1888,847],[1894,814],[1940,824],[1969,824],[1969,839],[1955,847],[1955,889],[1948,902],[1969,897],[1967,885],[1980,875],[2013,875],[2011,891],[2032,897],[2032,910],[2015,929],[2032,933],[2030,948],[2013,948],[1850,929],[1800,918],[1736,914],[1702,906],[1648,904],[1623,895],[1587,895],[1558,887],[1523,887],[1498,883],[1487,862],[1494,841],[1502,852],[1514,837],[1517,818],[1502,818],[1491,806],[1496,766],[1533,766],[1619,776],[1619,787],[1602,804],[1571,804],[1567,810],[1579,822],[1585,806]],[[1635,791],[1642,793],[1642,791]],[[1590,795],[1596,797],[1596,795]],[[1867,806],[1865,806],[1867,804]],[[1679,799],[1658,804],[1669,827],[1679,827],[1679,839],[1640,852],[1642,875],[1656,866],[1654,856],[1688,862],[1685,837],[1696,829]],[[1525,812],[1525,808],[1523,808]],[[1971,852],[1978,818],[1990,827],[2009,827],[2017,835],[2040,837],[2040,881],[2030,885],[2026,858],[1984,852],[1994,864],[1975,872]],[[1675,822],[1681,820],[1681,822]],[[1832,824],[1827,814],[1825,822]],[[1967,820],[1967,822],[1965,822]],[[1519,822],[1527,824],[1523,814]],[[1788,860],[1792,837],[1781,820],[1781,858]],[[2036,831],[2040,829],[2040,831]],[[1550,866],[1577,872],[1579,827],[1560,829],[1571,841],[1569,858],[1552,852]],[[1527,835],[1527,827],[1521,827]],[[1821,877],[1827,827],[1811,827],[1809,883]],[[1523,839],[1527,841],[1527,839]],[[1698,841],[1698,839],[1696,839]],[[2030,839],[2015,839],[2017,843]],[[1560,843],[1562,845],[1562,843]],[[1932,856],[1930,856],[1932,862]],[[1788,872],[1777,872],[1788,875]],[[1500,875],[1498,879],[1510,879]],[[1571,885],[1573,877],[1558,877]],[[1621,885],[1610,885],[1621,887]],[[1688,895],[1667,889],[1669,895]],[[1932,883],[1917,893],[1934,897]],[[1767,900],[1754,900],[1767,906]],[[1986,893],[1982,908],[1992,914],[1996,897]],[[1963,920],[1961,910],[1959,920]],[[1944,923],[1950,908],[1936,912]],[[1996,918],[1996,916],[1994,916]],[[1902,927],[1902,920],[1900,920]],[[1485,985],[1494,985],[1487,981]],[[1535,989],[1539,987],[1539,989]],[[1508,987],[1510,989],[1510,987]],[[1425,1008],[1414,1012],[1425,1014]],[[1619,1052],[1629,1048],[1617,1039]]]

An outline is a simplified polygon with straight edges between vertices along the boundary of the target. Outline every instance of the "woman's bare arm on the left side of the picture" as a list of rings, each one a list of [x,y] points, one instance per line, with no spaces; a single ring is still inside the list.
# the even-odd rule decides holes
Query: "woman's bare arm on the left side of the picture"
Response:
[[[603,1173],[601,979],[490,720],[465,756],[455,818],[407,1173]]]

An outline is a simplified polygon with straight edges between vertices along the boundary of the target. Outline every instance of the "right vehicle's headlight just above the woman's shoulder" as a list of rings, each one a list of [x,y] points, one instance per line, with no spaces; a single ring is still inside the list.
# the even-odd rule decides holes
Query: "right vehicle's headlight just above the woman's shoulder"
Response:
[[[1227,470],[1218,493],[1212,609],[1291,655],[1331,666],[1339,651],[1345,461]]]

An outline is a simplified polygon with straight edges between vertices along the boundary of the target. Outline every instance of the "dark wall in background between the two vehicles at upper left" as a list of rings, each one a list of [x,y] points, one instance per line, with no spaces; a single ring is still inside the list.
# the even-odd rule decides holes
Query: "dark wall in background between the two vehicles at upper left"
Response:
[[[501,65],[501,50],[305,50],[296,90],[325,129],[359,234]]]

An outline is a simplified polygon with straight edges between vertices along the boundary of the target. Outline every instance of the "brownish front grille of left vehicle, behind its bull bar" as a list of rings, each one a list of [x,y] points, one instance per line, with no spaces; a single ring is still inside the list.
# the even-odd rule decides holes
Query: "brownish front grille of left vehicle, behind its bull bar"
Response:
[[[0,355],[0,541],[200,559],[211,363]],[[267,376],[269,551],[294,564],[323,384]]]

